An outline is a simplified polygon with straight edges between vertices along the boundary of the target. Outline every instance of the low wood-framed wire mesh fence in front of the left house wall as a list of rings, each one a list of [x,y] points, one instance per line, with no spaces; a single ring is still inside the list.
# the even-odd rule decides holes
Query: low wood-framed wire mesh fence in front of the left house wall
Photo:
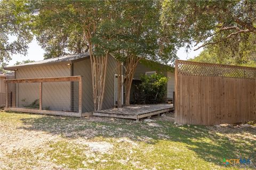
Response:
[[[5,101],[8,101],[5,102],[5,111],[82,115],[81,76],[4,81]]]

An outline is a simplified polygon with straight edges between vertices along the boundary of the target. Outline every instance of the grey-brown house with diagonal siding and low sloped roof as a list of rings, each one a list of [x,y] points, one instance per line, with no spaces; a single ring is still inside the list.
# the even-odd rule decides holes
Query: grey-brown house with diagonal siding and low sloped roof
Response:
[[[117,62],[112,55],[109,55],[107,65],[107,79],[105,86],[105,96],[103,98],[102,109],[112,108],[117,99]],[[94,110],[92,98],[92,74],[90,54],[66,55],[57,58],[50,58],[43,61],[31,62],[21,65],[5,67],[5,70],[14,71],[15,79],[28,79],[25,83],[15,83],[15,98],[12,106],[15,108],[39,108],[39,98],[41,95],[42,109],[50,111],[59,111],[57,115],[66,115],[63,112],[71,112],[72,116],[79,111],[79,83],[75,81],[64,82],[40,82],[33,81],[33,78],[61,78],[61,77],[82,77],[82,113],[89,113]],[[159,68],[158,68],[159,70]],[[159,72],[150,69],[139,63],[134,81],[139,80],[140,74]],[[164,75],[171,77],[168,82],[167,97],[172,98],[174,91],[174,73],[164,71]],[[34,80],[33,79],[33,80]],[[10,83],[9,83],[10,86]],[[39,87],[41,92],[39,92]],[[131,95],[132,96],[132,95]],[[15,110],[14,110],[15,111]]]

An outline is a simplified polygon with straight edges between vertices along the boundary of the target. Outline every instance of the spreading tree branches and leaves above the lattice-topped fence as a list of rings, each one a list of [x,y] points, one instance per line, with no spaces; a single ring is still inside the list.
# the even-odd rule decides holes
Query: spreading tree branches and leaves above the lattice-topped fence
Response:
[[[239,53],[241,43],[255,42],[255,1],[169,1],[163,2],[162,24],[190,48],[212,45]],[[195,49],[195,50],[197,50]]]

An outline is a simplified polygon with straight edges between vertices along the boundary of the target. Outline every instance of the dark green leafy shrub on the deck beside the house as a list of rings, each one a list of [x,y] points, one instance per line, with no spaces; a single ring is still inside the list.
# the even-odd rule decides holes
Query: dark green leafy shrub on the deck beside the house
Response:
[[[163,101],[167,92],[167,81],[168,78],[162,74],[141,75],[141,83],[137,87],[140,91],[140,101],[146,104]]]

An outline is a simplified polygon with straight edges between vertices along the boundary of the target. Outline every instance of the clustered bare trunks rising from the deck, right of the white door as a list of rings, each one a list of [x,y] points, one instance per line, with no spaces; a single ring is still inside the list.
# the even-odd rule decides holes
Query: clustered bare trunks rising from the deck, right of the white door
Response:
[[[125,87],[125,106],[130,106],[130,93],[131,93],[131,87],[132,87],[132,80],[134,77],[135,69],[139,63],[141,58],[139,57],[127,57],[126,63],[125,63],[125,81],[124,81],[124,87]]]

